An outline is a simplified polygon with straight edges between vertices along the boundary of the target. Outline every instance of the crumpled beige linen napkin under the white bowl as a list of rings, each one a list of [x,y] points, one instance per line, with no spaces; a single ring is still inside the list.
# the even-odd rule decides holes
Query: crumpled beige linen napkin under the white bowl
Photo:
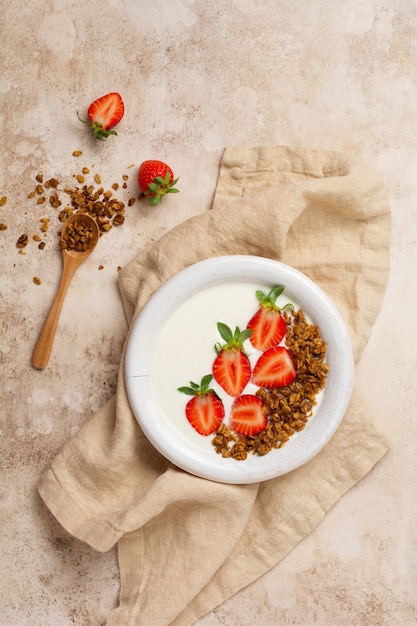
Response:
[[[131,323],[170,276],[225,254],[270,257],[318,283],[338,307],[358,362],[389,271],[390,211],[375,172],[352,155],[230,148],[213,208],[187,220],[120,273]],[[39,492],[74,536],[118,542],[120,605],[108,626],[189,626],[275,566],[385,454],[354,390],[342,424],[309,463],[253,485],[225,485],[162,458],[131,413],[124,385],[71,439]]]

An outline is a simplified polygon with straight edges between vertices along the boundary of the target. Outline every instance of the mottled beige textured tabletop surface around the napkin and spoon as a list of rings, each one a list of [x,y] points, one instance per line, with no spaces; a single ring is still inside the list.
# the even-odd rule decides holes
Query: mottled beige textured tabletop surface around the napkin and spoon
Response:
[[[277,568],[198,626],[416,624],[415,1],[33,0],[5,4],[0,28],[0,625],[103,625],[116,604],[115,550],[68,536],[35,486],[115,391],[127,329],[118,267],[208,210],[223,148],[241,144],[349,149],[382,172],[391,278],[360,369],[393,445]],[[126,114],[97,142],[76,111],[109,91]],[[48,367],[34,370],[61,273],[59,210],[28,198],[35,176],[74,186],[88,167],[127,204],[148,158],[171,164],[181,193],[126,207],[69,288]]]

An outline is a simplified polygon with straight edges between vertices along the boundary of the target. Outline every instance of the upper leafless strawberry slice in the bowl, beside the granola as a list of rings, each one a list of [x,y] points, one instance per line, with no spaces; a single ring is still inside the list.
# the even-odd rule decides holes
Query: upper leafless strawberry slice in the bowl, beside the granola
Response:
[[[285,387],[296,375],[297,370],[287,348],[275,346],[259,357],[253,370],[252,382],[258,387]]]

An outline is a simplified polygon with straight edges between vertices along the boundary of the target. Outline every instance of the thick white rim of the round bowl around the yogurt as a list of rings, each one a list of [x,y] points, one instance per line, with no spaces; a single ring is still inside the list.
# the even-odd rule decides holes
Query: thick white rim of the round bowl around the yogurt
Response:
[[[155,333],[171,313],[201,289],[233,281],[285,284],[293,298],[319,327],[328,345],[331,361],[328,383],[318,415],[325,415],[323,427],[313,428],[313,416],[302,431],[310,431],[310,445],[300,441],[300,433],[284,448],[265,457],[250,455],[246,461],[223,459],[184,444],[178,431],[161,409],[153,386],[151,363]],[[140,346],[140,349],[138,349]],[[175,466],[201,478],[229,484],[248,484],[281,476],[311,460],[328,443],[348,407],[354,382],[354,360],[346,325],[324,291],[299,270],[274,259],[252,255],[224,255],[193,263],[165,281],[149,298],[131,325],[125,352],[125,385],[135,419],[142,431],[165,458]],[[294,436],[295,437],[295,436]],[[301,440],[302,441],[302,440]],[[292,454],[287,452],[291,450]],[[252,458],[253,457],[253,458]]]

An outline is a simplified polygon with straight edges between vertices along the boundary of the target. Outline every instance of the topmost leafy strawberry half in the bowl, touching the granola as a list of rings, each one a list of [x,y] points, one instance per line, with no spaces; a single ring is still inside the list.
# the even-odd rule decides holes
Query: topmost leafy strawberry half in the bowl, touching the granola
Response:
[[[287,325],[280,313],[282,309],[276,304],[276,299],[284,289],[285,287],[278,285],[273,287],[268,294],[263,291],[256,292],[260,308],[249,321],[247,328],[253,331],[250,337],[251,344],[262,352],[278,345],[285,336]]]

